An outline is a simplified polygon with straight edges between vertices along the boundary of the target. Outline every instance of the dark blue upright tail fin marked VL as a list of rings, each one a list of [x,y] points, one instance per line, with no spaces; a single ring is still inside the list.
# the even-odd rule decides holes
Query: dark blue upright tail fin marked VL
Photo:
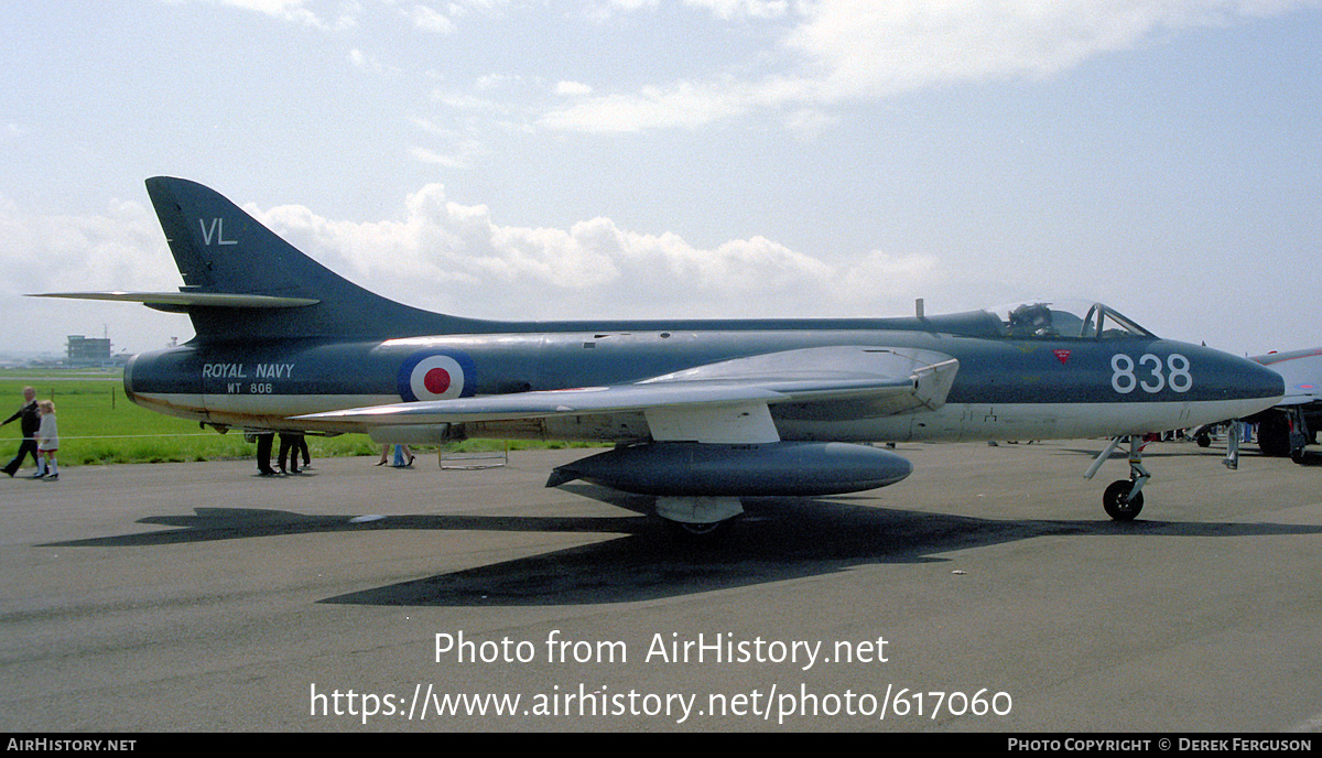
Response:
[[[184,276],[173,302],[201,340],[377,337],[464,331],[460,321],[370,292],[307,257],[219,193],[194,181],[147,180]]]

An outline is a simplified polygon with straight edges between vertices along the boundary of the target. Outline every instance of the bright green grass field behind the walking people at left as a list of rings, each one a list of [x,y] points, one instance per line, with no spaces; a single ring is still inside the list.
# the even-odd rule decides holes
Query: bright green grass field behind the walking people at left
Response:
[[[0,372],[0,421],[22,405],[22,388],[37,390],[37,400],[56,403],[59,421],[59,464],[163,463],[253,458],[256,444],[243,441],[241,430],[217,434],[197,422],[161,415],[139,407],[124,397],[120,372],[46,370]],[[19,448],[19,422],[0,429],[0,459]],[[564,447],[555,442],[465,441],[447,450],[510,450]],[[366,435],[308,437],[312,458],[378,455],[379,446]],[[423,448],[435,450],[435,448]],[[30,459],[29,463],[30,464]]]

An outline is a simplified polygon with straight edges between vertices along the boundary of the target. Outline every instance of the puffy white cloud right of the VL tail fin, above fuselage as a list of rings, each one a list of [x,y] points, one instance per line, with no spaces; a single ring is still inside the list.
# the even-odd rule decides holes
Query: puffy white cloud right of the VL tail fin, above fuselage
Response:
[[[439,184],[408,196],[401,221],[334,221],[297,205],[247,210],[368,288],[477,317],[887,315],[906,312],[915,292],[951,286],[929,255],[834,265],[764,237],[703,249],[609,218],[501,225]]]

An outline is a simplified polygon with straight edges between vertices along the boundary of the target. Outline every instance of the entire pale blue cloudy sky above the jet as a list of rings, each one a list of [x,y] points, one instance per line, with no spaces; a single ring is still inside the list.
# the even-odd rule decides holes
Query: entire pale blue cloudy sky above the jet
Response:
[[[143,180],[455,315],[1105,302],[1322,345],[1322,0],[106,0],[0,12],[0,355],[185,316]]]

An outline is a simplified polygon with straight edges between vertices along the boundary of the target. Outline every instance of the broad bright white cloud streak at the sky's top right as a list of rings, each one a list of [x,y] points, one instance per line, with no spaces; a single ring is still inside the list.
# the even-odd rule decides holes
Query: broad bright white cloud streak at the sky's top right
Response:
[[[697,128],[760,108],[816,114],[958,82],[1056,75],[1192,26],[1315,7],[1317,0],[687,0],[715,16],[793,24],[783,69],[605,93],[546,112],[547,128],[636,132]],[[632,5],[636,5],[632,4]],[[804,116],[791,127],[810,127]]]

